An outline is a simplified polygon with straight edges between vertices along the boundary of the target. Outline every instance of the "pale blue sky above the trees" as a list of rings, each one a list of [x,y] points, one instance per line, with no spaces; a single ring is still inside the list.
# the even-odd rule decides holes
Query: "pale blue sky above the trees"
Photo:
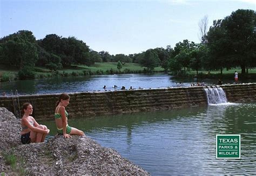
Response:
[[[237,9],[256,9],[256,0],[0,0],[0,38],[19,30],[36,39],[47,34],[73,36],[92,50],[133,54],[174,47],[188,39],[199,43],[198,22],[223,19]]]

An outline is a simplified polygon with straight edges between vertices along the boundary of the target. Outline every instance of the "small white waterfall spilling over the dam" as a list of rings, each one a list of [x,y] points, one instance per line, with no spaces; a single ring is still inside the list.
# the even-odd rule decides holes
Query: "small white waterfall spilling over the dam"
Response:
[[[205,88],[208,104],[227,103],[225,91],[221,87]]]

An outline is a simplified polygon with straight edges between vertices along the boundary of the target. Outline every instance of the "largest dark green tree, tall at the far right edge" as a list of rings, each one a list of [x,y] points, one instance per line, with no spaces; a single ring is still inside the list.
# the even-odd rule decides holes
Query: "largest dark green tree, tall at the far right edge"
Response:
[[[231,46],[230,57],[246,73],[246,68],[255,66],[256,55],[256,13],[254,10],[238,9],[223,20],[228,45]]]

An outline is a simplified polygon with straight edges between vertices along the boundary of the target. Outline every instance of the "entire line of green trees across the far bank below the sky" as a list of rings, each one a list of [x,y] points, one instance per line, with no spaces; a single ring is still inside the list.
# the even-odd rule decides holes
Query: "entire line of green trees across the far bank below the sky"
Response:
[[[238,9],[224,19],[214,20],[207,32],[207,17],[199,22],[201,43],[187,39],[172,48],[150,48],[141,53],[111,55],[93,51],[82,40],[49,34],[36,40],[31,31],[18,31],[0,39],[0,64],[21,69],[44,66],[56,70],[72,64],[91,66],[95,62],[138,63],[150,72],[161,66],[174,74],[241,67],[242,74],[256,66],[256,14]],[[119,67],[120,68],[120,67]]]

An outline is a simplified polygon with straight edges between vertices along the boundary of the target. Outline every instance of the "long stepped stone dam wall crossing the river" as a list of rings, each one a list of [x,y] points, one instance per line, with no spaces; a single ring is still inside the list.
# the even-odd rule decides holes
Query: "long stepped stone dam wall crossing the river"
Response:
[[[256,83],[221,86],[229,102],[256,101]],[[69,118],[119,114],[161,109],[177,109],[207,105],[205,87],[168,89],[118,90],[69,94]],[[36,119],[54,119],[55,103],[59,94],[19,96],[19,104],[30,102]],[[0,107],[15,112],[17,97],[0,97]],[[17,107],[17,105],[16,105]],[[15,113],[14,113],[15,114]],[[17,113],[16,113],[17,114]]]

